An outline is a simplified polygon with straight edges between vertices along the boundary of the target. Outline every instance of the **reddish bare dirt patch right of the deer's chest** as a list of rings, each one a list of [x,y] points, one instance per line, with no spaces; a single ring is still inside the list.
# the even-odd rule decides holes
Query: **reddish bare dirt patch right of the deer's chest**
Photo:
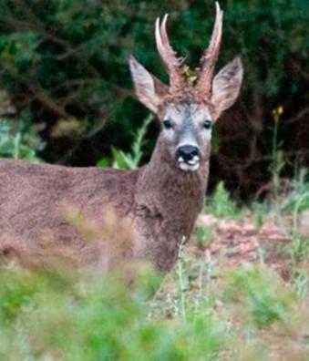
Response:
[[[265,220],[257,228],[249,217],[219,220],[211,215],[201,214],[197,226],[211,227],[211,244],[205,251],[211,258],[223,258],[228,265],[263,260],[280,273],[284,280],[288,279],[290,260],[282,249],[290,239],[283,235],[272,218]]]

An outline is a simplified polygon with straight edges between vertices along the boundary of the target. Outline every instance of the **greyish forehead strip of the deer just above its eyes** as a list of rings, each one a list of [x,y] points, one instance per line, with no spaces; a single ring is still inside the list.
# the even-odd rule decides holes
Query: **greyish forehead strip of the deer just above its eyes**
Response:
[[[205,105],[176,103],[168,104],[162,109],[162,118],[173,120],[176,123],[185,121],[200,123],[205,119],[211,119],[211,112]]]

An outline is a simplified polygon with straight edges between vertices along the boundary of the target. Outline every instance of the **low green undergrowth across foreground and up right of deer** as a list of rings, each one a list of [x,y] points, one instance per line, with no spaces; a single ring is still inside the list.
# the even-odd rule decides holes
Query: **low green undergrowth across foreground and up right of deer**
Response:
[[[308,360],[309,243],[289,219],[309,208],[307,189],[297,180],[283,205],[274,200],[248,210],[236,208],[220,185],[205,209],[225,229],[228,222],[254,219],[249,238],[274,217],[281,224],[277,236],[289,237],[273,253],[285,282],[269,262],[271,237],[255,250],[255,263],[242,253],[241,264],[229,264],[232,243],[221,256],[211,255],[216,223],[197,229],[203,232],[181,248],[174,272],[163,280],[145,264],[119,263],[117,273],[99,277],[81,277],[56,263],[36,272],[2,264],[0,358]],[[129,284],[128,271],[135,274]]]

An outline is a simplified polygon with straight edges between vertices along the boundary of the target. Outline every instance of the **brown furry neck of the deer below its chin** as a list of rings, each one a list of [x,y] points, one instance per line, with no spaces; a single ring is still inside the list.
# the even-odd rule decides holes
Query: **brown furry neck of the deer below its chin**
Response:
[[[201,211],[208,173],[209,161],[193,172],[180,170],[159,138],[149,164],[139,173],[138,202],[176,228],[189,230]]]

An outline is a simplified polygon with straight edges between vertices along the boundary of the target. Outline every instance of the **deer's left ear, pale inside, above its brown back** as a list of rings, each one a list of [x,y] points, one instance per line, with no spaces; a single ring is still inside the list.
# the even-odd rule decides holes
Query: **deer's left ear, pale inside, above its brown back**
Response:
[[[151,75],[135,57],[129,57],[129,68],[139,101],[154,113],[158,113],[160,101],[168,92],[168,87]]]

